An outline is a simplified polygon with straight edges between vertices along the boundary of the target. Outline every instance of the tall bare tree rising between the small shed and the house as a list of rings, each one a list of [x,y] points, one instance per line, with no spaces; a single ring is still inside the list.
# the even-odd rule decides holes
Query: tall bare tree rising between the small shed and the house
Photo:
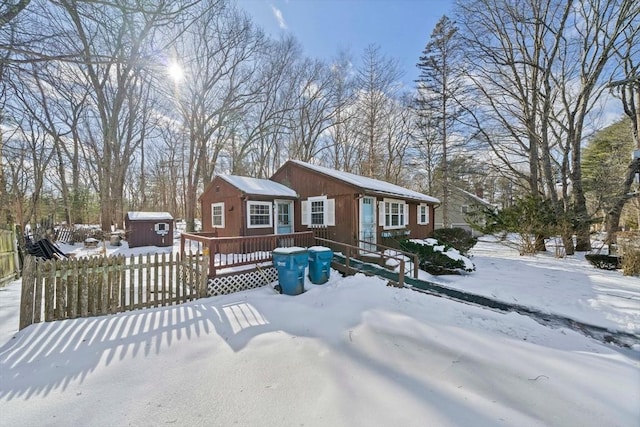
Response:
[[[213,179],[238,117],[257,96],[250,83],[257,67],[254,55],[263,40],[246,15],[221,5],[207,8],[176,46],[187,76],[177,104],[188,132],[188,230],[194,229],[198,191]]]

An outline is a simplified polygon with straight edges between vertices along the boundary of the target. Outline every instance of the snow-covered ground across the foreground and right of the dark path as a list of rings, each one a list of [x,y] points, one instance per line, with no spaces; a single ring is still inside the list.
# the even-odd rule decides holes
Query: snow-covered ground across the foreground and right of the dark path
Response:
[[[640,331],[637,277],[596,270],[581,256],[520,257],[490,241],[472,254],[475,272],[429,278]],[[17,333],[19,287],[0,289],[1,426],[640,420],[640,337],[624,349],[362,275],[333,272],[295,297],[263,287]]]

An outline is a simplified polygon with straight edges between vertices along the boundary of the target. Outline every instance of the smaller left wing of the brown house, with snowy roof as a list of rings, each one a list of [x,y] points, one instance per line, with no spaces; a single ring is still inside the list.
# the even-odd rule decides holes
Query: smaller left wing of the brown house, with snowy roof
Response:
[[[297,198],[268,179],[217,175],[199,198],[202,231],[217,237],[293,233]]]

